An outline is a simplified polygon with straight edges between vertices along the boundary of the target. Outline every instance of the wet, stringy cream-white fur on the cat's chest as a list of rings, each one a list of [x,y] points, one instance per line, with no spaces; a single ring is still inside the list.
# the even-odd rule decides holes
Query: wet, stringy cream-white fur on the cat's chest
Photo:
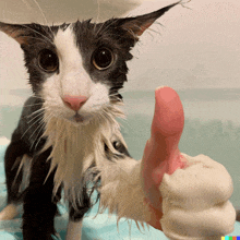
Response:
[[[45,118],[48,118],[48,112]],[[88,168],[104,166],[108,161],[105,144],[112,153],[112,140],[117,137],[123,141],[115,118],[115,115],[109,115],[108,118],[98,116],[87,124],[80,125],[56,117],[47,121],[44,135],[48,136],[48,141],[44,149],[52,146],[49,173],[57,167],[55,193],[63,183],[67,199],[81,201],[83,177]]]

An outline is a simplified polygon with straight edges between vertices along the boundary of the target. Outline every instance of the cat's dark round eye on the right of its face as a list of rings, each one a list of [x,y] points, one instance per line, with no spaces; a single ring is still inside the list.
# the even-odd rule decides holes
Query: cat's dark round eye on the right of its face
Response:
[[[115,61],[115,56],[108,48],[99,48],[93,53],[93,64],[98,70],[108,69]]]

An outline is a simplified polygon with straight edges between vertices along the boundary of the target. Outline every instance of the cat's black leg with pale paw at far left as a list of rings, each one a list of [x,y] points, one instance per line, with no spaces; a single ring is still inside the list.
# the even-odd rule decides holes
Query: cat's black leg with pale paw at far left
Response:
[[[7,182],[7,206],[0,213],[0,220],[11,220],[20,213],[21,193],[20,185],[22,182],[22,170],[20,169],[22,155],[25,154],[26,147],[22,141],[13,141],[5,151],[4,168]]]

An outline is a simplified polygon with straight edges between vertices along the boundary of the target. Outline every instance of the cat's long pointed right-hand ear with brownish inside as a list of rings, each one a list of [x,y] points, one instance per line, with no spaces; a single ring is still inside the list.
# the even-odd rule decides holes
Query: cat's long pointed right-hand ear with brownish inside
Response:
[[[147,13],[144,15],[135,16],[135,17],[127,17],[122,19],[123,23],[121,23],[121,27],[130,32],[137,38],[141,36],[145,29],[147,29],[158,17],[165,14],[169,9],[179,4],[181,1],[159,9],[155,12]]]

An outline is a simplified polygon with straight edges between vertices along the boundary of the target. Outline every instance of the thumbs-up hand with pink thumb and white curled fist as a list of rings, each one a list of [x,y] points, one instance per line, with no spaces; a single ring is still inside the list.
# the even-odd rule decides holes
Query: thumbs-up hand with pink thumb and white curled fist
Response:
[[[178,94],[170,87],[158,87],[155,100],[141,169],[145,202],[152,212],[148,224],[170,239],[231,232],[235,209],[228,201],[232,193],[230,176],[207,156],[180,153],[184,115]]]

